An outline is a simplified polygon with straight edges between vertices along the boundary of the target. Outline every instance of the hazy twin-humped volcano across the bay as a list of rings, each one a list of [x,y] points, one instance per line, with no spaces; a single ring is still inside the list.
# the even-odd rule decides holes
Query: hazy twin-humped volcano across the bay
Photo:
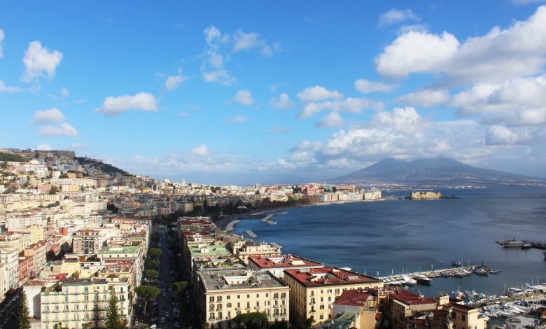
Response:
[[[546,180],[464,165],[453,159],[385,159],[329,183],[424,187],[546,186]]]

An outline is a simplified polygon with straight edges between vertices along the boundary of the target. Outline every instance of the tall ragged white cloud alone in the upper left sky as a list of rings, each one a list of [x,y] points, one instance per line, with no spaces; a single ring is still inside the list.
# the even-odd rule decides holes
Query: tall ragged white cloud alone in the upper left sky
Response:
[[[32,41],[25,52],[23,63],[25,63],[25,73],[22,80],[29,83],[36,78],[40,78],[44,73],[51,78],[55,74],[55,69],[61,62],[62,53],[53,50],[49,51],[43,48],[40,41]]]

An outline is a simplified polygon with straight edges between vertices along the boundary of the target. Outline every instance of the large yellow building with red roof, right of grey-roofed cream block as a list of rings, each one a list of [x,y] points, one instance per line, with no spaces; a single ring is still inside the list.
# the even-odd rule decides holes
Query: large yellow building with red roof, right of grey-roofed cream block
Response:
[[[290,314],[301,327],[325,321],[332,303],[344,290],[381,288],[383,281],[337,267],[288,269],[284,281],[290,286]]]

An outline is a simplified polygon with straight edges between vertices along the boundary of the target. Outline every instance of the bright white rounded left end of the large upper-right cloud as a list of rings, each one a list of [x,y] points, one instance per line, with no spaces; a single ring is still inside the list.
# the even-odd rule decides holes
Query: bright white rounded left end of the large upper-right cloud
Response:
[[[377,71],[384,76],[403,78],[409,73],[437,71],[458,49],[458,41],[444,31],[439,36],[419,31],[402,34],[375,58]]]

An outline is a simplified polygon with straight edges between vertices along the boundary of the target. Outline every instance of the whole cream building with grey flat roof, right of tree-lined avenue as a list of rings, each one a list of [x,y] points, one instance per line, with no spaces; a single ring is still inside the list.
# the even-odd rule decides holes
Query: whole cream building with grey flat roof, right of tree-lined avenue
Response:
[[[250,269],[200,272],[197,300],[211,328],[235,328],[237,314],[263,312],[270,323],[289,319],[288,286],[269,272]]]

